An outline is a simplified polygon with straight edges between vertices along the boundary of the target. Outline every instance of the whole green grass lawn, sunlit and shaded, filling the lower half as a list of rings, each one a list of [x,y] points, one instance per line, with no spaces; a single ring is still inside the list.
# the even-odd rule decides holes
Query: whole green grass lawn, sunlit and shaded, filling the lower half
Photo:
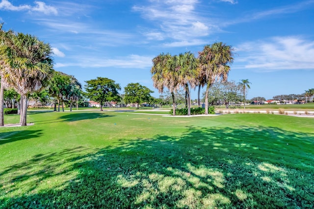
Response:
[[[27,116],[0,128],[0,208],[314,206],[314,118]]]

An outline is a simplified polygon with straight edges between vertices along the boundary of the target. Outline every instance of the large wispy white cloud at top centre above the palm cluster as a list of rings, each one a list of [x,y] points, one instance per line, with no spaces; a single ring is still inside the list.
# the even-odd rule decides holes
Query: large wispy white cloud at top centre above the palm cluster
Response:
[[[154,33],[151,28],[145,33],[149,40],[157,35],[157,40],[173,40],[172,46],[179,46],[176,43],[191,43],[190,39],[208,36],[214,27],[197,13],[198,3],[198,0],[156,0],[149,5],[133,6],[133,10],[155,26]]]

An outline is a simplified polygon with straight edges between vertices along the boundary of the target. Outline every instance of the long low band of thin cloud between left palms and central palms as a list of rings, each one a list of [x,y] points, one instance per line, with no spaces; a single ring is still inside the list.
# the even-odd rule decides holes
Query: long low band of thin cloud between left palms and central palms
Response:
[[[95,56],[76,56],[73,57],[73,62],[57,62],[54,67],[69,67],[77,66],[82,68],[100,68],[100,67],[112,67],[112,68],[137,68],[145,69],[152,66],[153,56],[141,56],[137,54],[131,54],[125,57],[115,58],[102,58]],[[71,58],[69,59],[71,60]]]

